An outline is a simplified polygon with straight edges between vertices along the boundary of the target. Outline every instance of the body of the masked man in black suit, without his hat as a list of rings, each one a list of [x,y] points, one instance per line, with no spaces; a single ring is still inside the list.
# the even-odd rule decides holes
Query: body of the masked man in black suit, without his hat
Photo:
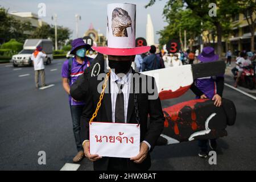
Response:
[[[84,84],[80,85],[80,87],[86,86],[88,88],[85,94],[86,105],[81,117],[81,134],[82,139],[84,139],[85,156],[93,161],[94,170],[148,170],[151,166],[149,152],[153,150],[163,131],[165,118],[154,78],[135,73],[131,68],[134,58],[135,56],[108,56],[109,67],[112,72],[106,85],[97,118],[94,119],[94,121],[98,122],[137,123],[139,121],[141,125],[141,147],[139,154],[134,158],[102,158],[97,154],[90,154],[89,121],[96,110],[104,77],[92,77],[86,83],[84,82]],[[118,92],[114,95],[112,87],[118,85],[120,80],[120,85],[122,85],[122,81],[124,85],[118,87],[118,89],[121,89],[119,90],[121,94]],[[128,94],[125,92],[127,89]],[[134,91],[136,94],[134,94]],[[154,97],[155,95],[156,97]],[[134,97],[137,97],[137,100]],[[135,102],[137,102],[138,109],[135,109]],[[114,109],[113,106],[115,106]],[[138,111],[138,117],[136,110]]]

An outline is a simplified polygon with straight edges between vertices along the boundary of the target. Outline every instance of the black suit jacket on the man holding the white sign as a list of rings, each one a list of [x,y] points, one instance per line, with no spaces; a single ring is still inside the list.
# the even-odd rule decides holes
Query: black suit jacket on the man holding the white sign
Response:
[[[146,79],[146,86],[148,85],[148,81],[152,80],[151,84],[155,85],[155,80],[152,77],[148,77],[145,75],[139,76]],[[83,84],[82,86],[86,86],[88,89],[87,93],[85,94],[85,107],[81,117],[81,137],[82,140],[89,139],[89,121],[92,117],[97,103],[100,98],[100,93],[98,92],[97,88],[98,85],[104,81],[97,80],[97,77],[92,77],[88,80],[87,84]],[[148,100],[148,96],[152,95],[152,86],[151,90],[146,89],[142,92],[142,79],[135,81],[135,88],[140,88],[140,92],[137,94],[138,98],[138,110],[139,110],[139,118],[140,118],[140,125],[141,125],[141,142],[146,140],[150,146],[150,151],[153,150],[156,141],[158,140],[160,134],[163,131],[164,127],[164,115],[162,111],[161,102],[158,98],[155,100]],[[145,83],[144,83],[145,84]],[[144,85],[145,86],[145,85]],[[132,87],[131,87],[132,88]],[[147,88],[147,87],[146,87]],[[84,89],[85,90],[85,89]],[[100,91],[102,88],[100,89]],[[106,90],[109,92],[106,93]],[[112,122],[112,103],[111,103],[111,94],[110,94],[110,76],[108,85],[106,86],[105,95],[102,100],[102,104],[100,109],[98,110],[97,118],[94,121],[98,122]],[[145,92],[146,91],[146,92]],[[154,92],[157,93],[156,86],[154,87]],[[71,93],[72,95],[72,93]],[[149,123],[148,123],[148,116],[149,116]],[[127,123],[137,123],[136,114],[135,114],[135,106],[134,106],[134,94],[130,92],[129,95],[129,102],[128,102],[128,110],[127,110]],[[94,170],[107,170],[108,169],[108,160],[109,158],[102,158],[94,162]],[[128,169],[129,170],[147,170],[151,166],[150,155],[148,152],[147,158],[144,160],[143,163],[137,164],[127,159]]]

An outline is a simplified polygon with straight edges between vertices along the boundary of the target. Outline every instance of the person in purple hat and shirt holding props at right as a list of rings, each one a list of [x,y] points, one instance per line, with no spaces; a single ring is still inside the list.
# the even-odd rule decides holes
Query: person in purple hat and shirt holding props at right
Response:
[[[202,53],[198,56],[201,63],[207,63],[210,61],[217,61],[218,55],[214,54],[214,48],[205,47]],[[214,101],[214,105],[221,106],[222,92],[224,90],[224,75],[198,78],[191,86],[191,90],[196,94],[196,98],[205,99],[208,98]],[[208,140],[199,140],[201,158],[207,158],[208,156]],[[209,146],[213,151],[216,151],[217,142],[216,139],[209,140]]]

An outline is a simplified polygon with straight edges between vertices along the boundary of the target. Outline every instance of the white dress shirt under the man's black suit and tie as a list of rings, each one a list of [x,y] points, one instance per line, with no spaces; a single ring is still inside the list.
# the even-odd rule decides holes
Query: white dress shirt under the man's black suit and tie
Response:
[[[131,78],[133,73],[131,69],[126,75],[123,77],[118,77],[114,71],[110,72],[110,93],[111,93],[111,105],[112,105],[112,122],[115,122],[115,101],[117,100],[118,94],[118,84],[123,84],[122,92],[124,99],[124,108],[125,108],[125,123],[127,123],[127,110],[128,110],[128,102],[129,102],[129,94],[131,88]],[[143,141],[148,145],[148,150],[150,150],[151,146],[147,141]]]

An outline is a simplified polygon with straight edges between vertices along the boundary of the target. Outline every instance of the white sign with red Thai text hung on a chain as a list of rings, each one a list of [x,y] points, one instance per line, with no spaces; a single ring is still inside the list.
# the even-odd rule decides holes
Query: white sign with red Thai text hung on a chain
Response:
[[[132,158],[139,154],[140,127],[137,124],[92,122],[90,154]]]

